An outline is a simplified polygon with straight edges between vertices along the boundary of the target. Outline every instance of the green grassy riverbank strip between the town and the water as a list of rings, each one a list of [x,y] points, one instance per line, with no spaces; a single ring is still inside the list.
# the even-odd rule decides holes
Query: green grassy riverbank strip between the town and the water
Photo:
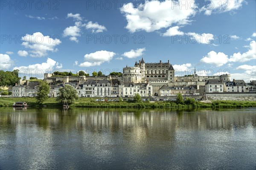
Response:
[[[212,101],[212,103],[195,102],[194,105],[180,105],[170,101],[156,102],[133,102],[133,101],[95,101],[96,98],[79,98],[77,102],[71,103],[70,107],[80,108],[256,108],[256,102],[250,101]],[[36,107],[34,97],[0,97],[0,107],[12,107],[14,102],[27,102],[30,107]],[[49,98],[44,105],[61,106],[55,98]]]

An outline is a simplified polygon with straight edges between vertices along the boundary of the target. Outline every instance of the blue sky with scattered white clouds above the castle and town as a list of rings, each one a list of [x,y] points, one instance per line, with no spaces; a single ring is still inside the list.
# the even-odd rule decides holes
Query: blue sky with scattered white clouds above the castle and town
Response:
[[[20,76],[109,74],[143,56],[177,76],[256,79],[255,0],[0,2],[0,69]]]

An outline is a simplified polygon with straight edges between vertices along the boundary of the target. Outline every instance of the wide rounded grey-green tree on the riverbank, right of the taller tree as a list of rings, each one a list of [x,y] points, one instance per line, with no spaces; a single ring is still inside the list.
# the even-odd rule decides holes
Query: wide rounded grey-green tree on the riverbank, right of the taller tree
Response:
[[[65,85],[64,87],[59,89],[57,101],[61,102],[62,100],[66,99],[69,102],[75,102],[79,99],[77,95],[77,91],[71,85]]]

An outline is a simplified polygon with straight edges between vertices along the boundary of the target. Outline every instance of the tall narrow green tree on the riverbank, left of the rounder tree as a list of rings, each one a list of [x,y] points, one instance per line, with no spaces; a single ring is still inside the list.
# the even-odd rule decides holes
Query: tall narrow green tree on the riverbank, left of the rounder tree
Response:
[[[50,87],[47,82],[40,81],[39,89],[36,96],[36,103],[38,105],[42,105],[43,102],[48,98],[48,94],[50,93]]]

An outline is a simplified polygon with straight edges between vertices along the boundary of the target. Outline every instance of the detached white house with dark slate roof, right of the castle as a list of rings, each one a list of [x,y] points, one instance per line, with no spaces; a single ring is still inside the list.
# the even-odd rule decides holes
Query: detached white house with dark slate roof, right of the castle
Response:
[[[205,84],[206,93],[222,93],[224,91],[224,82],[218,79],[209,79]]]

